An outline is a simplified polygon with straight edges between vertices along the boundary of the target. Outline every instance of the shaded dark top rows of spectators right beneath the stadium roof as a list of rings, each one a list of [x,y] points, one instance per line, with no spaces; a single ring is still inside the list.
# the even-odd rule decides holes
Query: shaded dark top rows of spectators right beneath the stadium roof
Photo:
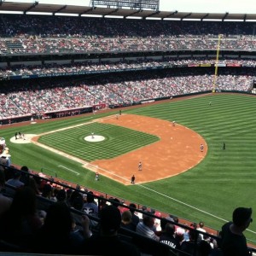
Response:
[[[115,38],[117,36],[145,38],[160,35],[197,37],[218,34],[233,38],[234,35],[253,35],[253,22],[217,22],[185,20],[129,20],[101,19],[91,17],[68,17],[46,15],[2,15],[0,35],[5,38],[19,38],[37,35],[42,38],[82,38],[97,36]],[[232,36],[229,36],[232,35]]]

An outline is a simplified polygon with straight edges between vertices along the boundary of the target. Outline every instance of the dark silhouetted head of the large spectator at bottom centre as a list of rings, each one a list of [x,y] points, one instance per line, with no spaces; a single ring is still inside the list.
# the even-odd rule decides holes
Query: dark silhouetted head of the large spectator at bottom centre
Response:
[[[121,214],[117,207],[107,206],[100,213],[103,236],[116,236],[121,224]]]

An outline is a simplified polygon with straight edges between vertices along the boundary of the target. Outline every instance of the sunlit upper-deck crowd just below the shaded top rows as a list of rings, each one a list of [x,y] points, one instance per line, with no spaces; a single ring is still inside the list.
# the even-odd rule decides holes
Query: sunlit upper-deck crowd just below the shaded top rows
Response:
[[[156,38],[2,38],[2,55],[5,54],[64,54],[90,52],[132,52],[132,51],[166,51],[166,50],[216,50],[218,38],[177,38],[175,36],[160,36]],[[244,36],[242,38],[222,38],[220,49],[255,50],[256,39]]]

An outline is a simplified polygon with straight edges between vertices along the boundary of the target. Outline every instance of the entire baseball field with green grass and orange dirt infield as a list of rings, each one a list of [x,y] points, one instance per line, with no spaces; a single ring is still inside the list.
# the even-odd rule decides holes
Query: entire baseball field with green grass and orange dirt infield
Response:
[[[2,126],[0,137],[13,164],[219,230],[234,208],[256,211],[255,106],[254,96],[216,93],[124,108],[118,119],[113,110]],[[254,222],[246,236],[256,244],[255,234]]]

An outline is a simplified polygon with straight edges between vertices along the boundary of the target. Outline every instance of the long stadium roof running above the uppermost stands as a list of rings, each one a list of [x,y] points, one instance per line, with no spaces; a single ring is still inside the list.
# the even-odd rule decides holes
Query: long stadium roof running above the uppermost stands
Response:
[[[47,4],[47,3],[17,3],[4,2],[0,0],[0,11],[4,12],[20,12],[23,14],[33,13],[50,13],[52,15],[100,15],[113,17],[140,17],[143,19],[157,18],[157,19],[175,19],[175,20],[256,20],[256,14],[214,14],[214,13],[186,13],[186,12],[167,12],[154,11],[143,9],[113,9],[113,8],[99,8],[90,6],[76,6],[76,5],[61,5],[61,4]]]

